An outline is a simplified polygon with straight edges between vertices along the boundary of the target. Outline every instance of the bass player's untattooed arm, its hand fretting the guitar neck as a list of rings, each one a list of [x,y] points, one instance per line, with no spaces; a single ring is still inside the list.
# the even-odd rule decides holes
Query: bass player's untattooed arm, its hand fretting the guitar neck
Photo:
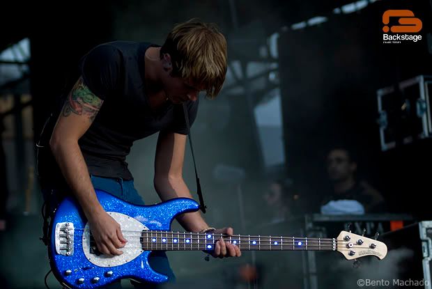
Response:
[[[171,198],[192,198],[183,180],[183,160],[185,158],[186,136],[174,132],[160,132],[155,155],[155,189],[162,201]],[[177,217],[187,231],[199,232],[208,228],[200,212],[190,212]],[[233,235],[232,228],[217,230],[217,233]],[[229,242],[217,242],[213,256],[240,256],[240,249]]]

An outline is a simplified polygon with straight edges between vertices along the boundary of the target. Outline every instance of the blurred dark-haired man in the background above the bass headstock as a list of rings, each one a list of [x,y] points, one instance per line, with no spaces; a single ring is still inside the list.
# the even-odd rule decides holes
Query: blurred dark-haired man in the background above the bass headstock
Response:
[[[332,148],[327,155],[330,192],[323,196],[323,214],[364,214],[383,212],[383,195],[357,176],[357,162],[347,148]]]

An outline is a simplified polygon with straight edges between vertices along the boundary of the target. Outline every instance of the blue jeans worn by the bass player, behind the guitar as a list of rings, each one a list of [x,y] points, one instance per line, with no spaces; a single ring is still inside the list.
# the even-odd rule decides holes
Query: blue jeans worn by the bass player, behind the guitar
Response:
[[[91,175],[91,182],[95,189],[105,191],[117,198],[134,205],[144,205],[144,201],[139,196],[137,189],[134,187],[133,180],[123,180],[121,178],[102,178],[95,175]],[[155,251],[151,253],[148,258],[148,264],[151,265],[153,270],[160,272],[169,277],[169,282],[176,281],[171,267],[169,266],[167,254],[164,251]],[[135,288],[158,288],[155,283],[138,283],[136,281],[130,281]],[[112,283],[106,288],[114,289],[121,288],[120,281]]]

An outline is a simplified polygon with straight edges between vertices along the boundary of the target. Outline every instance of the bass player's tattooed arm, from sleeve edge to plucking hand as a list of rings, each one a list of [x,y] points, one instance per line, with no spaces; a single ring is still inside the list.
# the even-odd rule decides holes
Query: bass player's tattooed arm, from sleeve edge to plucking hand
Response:
[[[49,146],[86,214],[99,251],[107,255],[120,255],[122,252],[117,248],[124,247],[126,240],[121,234],[120,225],[100,205],[78,145],[79,138],[90,127],[102,102],[79,78],[63,105]]]

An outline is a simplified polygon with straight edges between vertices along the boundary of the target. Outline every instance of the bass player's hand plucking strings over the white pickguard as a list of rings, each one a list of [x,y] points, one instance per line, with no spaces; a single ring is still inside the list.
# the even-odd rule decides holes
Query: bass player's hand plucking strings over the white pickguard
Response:
[[[98,250],[108,256],[123,254],[118,248],[125,247],[127,240],[121,233],[120,225],[107,212],[100,211],[88,219]]]

